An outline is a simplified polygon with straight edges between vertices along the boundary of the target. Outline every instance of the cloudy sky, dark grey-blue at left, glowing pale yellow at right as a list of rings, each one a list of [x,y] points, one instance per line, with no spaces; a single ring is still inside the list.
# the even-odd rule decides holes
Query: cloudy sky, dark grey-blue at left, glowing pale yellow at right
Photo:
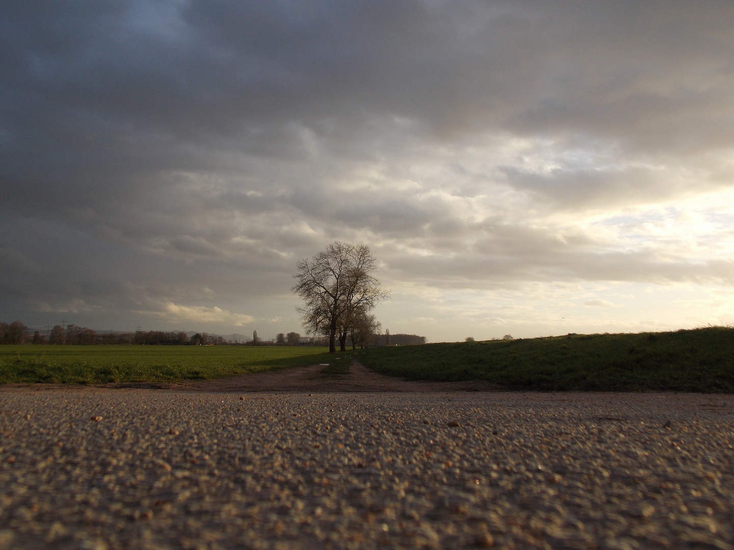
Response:
[[[0,320],[270,338],[362,241],[391,333],[734,323],[730,1],[0,7]]]

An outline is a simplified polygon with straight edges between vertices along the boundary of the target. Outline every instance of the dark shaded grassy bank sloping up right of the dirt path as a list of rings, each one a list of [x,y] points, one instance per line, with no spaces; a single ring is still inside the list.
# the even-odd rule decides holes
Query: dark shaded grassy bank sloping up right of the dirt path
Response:
[[[385,375],[510,389],[734,392],[730,327],[372,348],[357,359]]]

